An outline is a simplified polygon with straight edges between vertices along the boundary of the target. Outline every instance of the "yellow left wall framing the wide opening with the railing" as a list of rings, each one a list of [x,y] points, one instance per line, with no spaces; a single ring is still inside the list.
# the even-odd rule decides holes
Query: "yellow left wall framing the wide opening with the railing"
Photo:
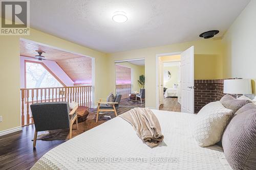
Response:
[[[1,101],[0,131],[20,126],[20,73],[19,38],[55,46],[60,49],[95,58],[95,101],[105,98],[109,93],[108,58],[105,54],[90,48],[60,39],[58,37],[31,29],[29,36],[0,36],[0,89]]]

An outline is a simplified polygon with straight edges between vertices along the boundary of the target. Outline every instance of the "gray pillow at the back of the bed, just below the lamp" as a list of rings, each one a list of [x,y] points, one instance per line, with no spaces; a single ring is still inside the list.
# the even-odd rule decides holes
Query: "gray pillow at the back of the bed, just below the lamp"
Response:
[[[248,100],[228,100],[222,103],[222,105],[230,110],[233,110],[233,114],[236,113],[240,108],[242,108],[244,105],[251,103],[251,101]]]

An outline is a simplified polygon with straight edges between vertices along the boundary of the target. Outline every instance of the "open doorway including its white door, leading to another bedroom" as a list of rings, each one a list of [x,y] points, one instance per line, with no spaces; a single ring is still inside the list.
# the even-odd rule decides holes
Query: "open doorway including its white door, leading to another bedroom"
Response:
[[[176,68],[178,69],[176,71],[174,68],[167,68],[168,65],[180,67]],[[164,69],[167,74],[165,76]],[[170,81],[172,72],[178,78],[174,82]],[[166,82],[164,82],[164,77],[166,77]],[[167,82],[172,84],[166,86]],[[158,109],[194,114],[194,88],[194,46],[184,52],[156,55],[156,90],[158,91],[156,106]]]

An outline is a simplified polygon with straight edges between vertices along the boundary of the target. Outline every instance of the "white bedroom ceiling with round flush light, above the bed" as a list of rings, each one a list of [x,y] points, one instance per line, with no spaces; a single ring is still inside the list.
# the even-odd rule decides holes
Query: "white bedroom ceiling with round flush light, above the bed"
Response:
[[[249,0],[33,0],[31,27],[95,50],[114,53],[198,40],[229,28]],[[125,23],[112,20],[127,13]]]

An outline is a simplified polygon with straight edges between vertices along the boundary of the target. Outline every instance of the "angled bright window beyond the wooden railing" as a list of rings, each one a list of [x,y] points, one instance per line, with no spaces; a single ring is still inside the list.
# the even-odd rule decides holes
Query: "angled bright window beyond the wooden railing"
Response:
[[[63,87],[44,63],[26,61],[25,68],[26,88]]]

